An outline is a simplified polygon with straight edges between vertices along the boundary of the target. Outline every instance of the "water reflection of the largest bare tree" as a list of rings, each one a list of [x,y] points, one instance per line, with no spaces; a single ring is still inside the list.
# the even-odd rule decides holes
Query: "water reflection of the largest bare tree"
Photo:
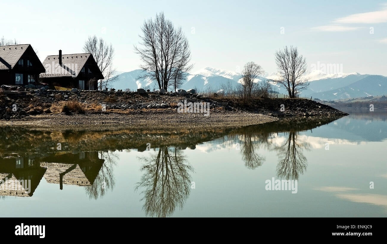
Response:
[[[176,207],[182,208],[190,194],[193,168],[186,162],[184,155],[176,147],[171,150],[161,147],[149,158],[141,158],[145,163],[144,171],[135,190],[143,188],[141,201],[148,216],[168,217]]]

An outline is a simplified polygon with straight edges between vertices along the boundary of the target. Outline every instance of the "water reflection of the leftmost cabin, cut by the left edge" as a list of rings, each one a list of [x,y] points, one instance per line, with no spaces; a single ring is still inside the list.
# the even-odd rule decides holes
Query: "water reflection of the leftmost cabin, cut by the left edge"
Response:
[[[18,154],[4,156],[0,157],[0,180],[4,181],[3,185],[0,185],[0,196],[32,196],[46,172],[46,169],[39,165],[39,157]],[[31,180],[28,185],[29,193],[25,189],[27,186],[20,183],[24,180]]]

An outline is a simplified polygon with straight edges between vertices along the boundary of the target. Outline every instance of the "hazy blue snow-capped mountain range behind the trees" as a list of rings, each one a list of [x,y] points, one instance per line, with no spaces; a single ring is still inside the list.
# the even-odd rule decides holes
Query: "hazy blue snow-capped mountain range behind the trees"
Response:
[[[138,88],[156,89],[156,82],[146,79],[137,79],[144,71],[133,70],[120,72],[118,80],[113,83],[115,89],[137,90]],[[219,90],[222,84],[231,84],[234,88],[238,85],[241,74],[234,71],[206,67],[187,74],[181,89],[195,88],[199,91],[207,89]],[[272,90],[286,94],[283,87],[271,82],[278,78],[275,73],[262,75],[256,82],[269,82]],[[381,96],[387,94],[387,77],[382,75],[368,75],[361,73],[334,73],[327,74],[319,70],[304,74],[309,82],[309,87],[301,92],[300,96],[313,97],[323,100],[338,100],[355,97]]]

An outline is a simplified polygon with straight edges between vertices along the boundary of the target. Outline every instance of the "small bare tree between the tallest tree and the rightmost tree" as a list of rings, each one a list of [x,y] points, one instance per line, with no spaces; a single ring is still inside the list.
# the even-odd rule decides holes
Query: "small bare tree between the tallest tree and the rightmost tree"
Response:
[[[262,67],[254,62],[248,62],[243,67],[238,91],[245,101],[250,99],[258,90],[258,83],[254,81],[264,72]]]

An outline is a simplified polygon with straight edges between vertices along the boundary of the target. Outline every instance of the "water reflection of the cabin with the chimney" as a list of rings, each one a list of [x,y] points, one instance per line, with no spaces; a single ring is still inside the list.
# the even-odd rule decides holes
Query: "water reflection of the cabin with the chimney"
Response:
[[[40,163],[47,170],[43,177],[48,183],[90,186],[98,176],[104,159],[98,152],[77,152],[49,155]]]

